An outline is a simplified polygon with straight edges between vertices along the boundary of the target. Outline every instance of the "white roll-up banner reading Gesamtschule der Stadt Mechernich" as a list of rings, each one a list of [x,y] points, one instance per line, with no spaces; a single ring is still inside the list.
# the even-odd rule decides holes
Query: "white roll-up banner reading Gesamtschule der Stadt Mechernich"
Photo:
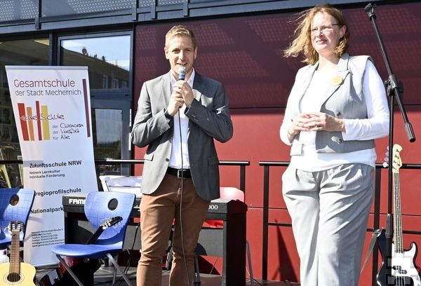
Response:
[[[24,259],[56,264],[65,243],[62,196],[98,191],[87,67],[6,66],[23,161],[23,186],[36,193]]]

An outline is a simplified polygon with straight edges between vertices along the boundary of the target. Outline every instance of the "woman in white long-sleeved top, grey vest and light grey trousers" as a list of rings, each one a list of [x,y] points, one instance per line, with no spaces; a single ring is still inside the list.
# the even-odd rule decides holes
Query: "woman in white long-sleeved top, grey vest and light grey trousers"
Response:
[[[375,143],[389,132],[382,79],[368,56],[346,53],[342,13],[323,4],[300,15],[286,56],[304,54],[280,136],[291,146],[282,177],[302,286],[356,286],[373,200]]]

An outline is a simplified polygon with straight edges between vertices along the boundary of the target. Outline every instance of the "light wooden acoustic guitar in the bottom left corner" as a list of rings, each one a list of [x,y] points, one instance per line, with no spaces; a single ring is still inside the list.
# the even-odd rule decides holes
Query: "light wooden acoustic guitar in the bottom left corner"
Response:
[[[0,285],[35,286],[35,267],[19,260],[19,233],[23,223],[10,222],[9,231],[12,233],[11,259],[8,263],[0,264]]]

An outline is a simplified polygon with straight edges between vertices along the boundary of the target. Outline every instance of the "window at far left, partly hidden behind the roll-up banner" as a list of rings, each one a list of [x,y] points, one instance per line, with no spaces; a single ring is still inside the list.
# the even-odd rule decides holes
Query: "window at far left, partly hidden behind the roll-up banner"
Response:
[[[0,160],[21,160],[18,130],[8,89],[6,65],[44,66],[49,64],[48,39],[0,42]],[[19,165],[0,165],[0,186],[22,186]]]

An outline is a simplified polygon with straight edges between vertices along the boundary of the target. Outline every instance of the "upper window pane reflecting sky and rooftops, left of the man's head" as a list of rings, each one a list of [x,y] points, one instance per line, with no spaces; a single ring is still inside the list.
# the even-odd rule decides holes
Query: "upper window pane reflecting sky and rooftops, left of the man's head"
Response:
[[[128,88],[130,43],[130,35],[63,39],[60,65],[88,67],[91,90]]]

